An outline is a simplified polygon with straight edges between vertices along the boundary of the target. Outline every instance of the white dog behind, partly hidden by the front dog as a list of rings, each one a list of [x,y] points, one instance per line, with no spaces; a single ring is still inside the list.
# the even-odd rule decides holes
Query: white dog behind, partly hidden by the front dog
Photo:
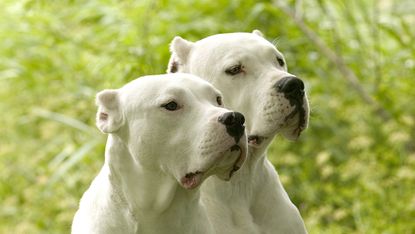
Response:
[[[211,178],[202,199],[219,233],[306,233],[298,209],[266,158],[277,133],[296,139],[307,127],[303,82],[287,72],[283,55],[253,33],[229,33],[195,43],[176,37],[168,72],[196,74],[222,91],[225,106],[246,117],[249,156],[231,184]]]

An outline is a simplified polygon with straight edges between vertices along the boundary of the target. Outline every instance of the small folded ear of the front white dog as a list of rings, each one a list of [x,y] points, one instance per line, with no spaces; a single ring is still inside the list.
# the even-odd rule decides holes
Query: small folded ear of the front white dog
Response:
[[[98,112],[96,125],[103,133],[113,133],[123,125],[123,115],[120,108],[117,90],[105,89],[96,96]]]

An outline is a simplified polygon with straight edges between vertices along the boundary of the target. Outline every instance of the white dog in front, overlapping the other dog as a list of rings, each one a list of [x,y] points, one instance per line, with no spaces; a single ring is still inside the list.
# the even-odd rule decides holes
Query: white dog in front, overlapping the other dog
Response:
[[[105,163],[72,233],[213,233],[198,186],[210,175],[229,180],[245,161],[243,115],[189,74],[139,78],[96,102]]]

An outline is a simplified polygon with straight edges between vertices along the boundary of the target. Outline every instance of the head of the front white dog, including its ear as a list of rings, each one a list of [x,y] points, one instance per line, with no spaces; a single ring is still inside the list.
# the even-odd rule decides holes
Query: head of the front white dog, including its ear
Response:
[[[229,180],[245,161],[243,115],[225,109],[221,93],[196,76],[142,77],[101,91],[96,102],[98,128],[118,136],[138,167],[185,188],[213,174]]]

